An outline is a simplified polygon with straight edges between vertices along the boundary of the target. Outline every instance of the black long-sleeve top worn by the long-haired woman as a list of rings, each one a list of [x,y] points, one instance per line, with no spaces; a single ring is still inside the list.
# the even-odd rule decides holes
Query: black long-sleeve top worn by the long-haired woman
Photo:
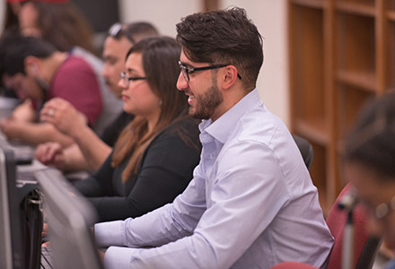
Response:
[[[182,125],[188,140],[175,131]],[[91,177],[75,187],[92,202],[100,221],[124,220],[171,203],[189,184],[200,160],[198,124],[191,118],[166,127],[148,145],[136,174],[122,182],[129,159],[111,166],[112,152]],[[197,147],[198,146],[198,147]]]

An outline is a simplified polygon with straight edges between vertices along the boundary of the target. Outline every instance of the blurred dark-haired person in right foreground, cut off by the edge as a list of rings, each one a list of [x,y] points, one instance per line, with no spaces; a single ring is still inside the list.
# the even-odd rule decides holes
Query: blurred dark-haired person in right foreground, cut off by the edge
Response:
[[[395,91],[362,109],[343,157],[345,178],[369,213],[369,232],[395,251]],[[385,268],[395,268],[395,260]]]

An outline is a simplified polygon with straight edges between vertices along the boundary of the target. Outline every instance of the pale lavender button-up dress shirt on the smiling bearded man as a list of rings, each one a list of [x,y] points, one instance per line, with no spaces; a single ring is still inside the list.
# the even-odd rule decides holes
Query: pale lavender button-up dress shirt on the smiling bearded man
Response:
[[[333,238],[292,135],[251,91],[199,126],[201,161],[172,204],[95,225],[106,268],[320,267]]]

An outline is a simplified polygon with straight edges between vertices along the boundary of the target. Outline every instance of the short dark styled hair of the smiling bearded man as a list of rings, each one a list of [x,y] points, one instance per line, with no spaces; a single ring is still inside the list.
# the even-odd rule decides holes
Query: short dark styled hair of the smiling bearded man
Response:
[[[244,9],[194,13],[176,27],[177,41],[189,60],[235,65],[244,88],[255,88],[263,63],[262,37]]]

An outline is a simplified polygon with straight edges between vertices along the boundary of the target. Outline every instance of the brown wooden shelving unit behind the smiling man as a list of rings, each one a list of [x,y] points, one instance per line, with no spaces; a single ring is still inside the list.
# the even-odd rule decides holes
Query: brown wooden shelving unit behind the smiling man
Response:
[[[365,102],[395,89],[395,0],[288,0],[291,129],[314,147],[325,213],[346,184],[342,141]]]

